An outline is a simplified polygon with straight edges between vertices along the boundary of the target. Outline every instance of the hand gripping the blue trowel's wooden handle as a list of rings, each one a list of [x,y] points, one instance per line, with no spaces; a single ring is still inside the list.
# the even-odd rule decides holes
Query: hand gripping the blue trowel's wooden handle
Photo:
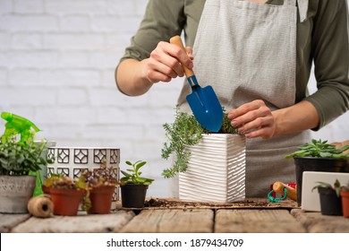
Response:
[[[183,77],[183,66],[192,69],[192,48],[178,48],[168,42],[161,41],[157,44],[147,60],[146,75],[150,83],[170,82],[177,76]]]

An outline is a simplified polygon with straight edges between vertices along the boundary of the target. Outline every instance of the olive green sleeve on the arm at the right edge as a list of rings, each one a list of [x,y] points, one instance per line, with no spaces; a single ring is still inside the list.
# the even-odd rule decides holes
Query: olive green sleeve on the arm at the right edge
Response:
[[[348,9],[345,0],[319,1],[311,54],[318,91],[307,97],[319,113],[319,128],[349,109]]]

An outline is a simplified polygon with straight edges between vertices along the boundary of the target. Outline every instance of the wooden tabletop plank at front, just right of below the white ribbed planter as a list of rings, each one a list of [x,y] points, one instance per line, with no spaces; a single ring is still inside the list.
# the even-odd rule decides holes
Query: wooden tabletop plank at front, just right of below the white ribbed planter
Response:
[[[218,210],[217,233],[303,233],[302,224],[287,210]]]

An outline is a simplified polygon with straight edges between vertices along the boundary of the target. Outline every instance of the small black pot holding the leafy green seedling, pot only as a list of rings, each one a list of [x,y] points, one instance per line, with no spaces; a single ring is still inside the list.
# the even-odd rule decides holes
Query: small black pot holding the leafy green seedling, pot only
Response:
[[[121,202],[123,207],[142,208],[149,185],[125,184],[121,188]]]

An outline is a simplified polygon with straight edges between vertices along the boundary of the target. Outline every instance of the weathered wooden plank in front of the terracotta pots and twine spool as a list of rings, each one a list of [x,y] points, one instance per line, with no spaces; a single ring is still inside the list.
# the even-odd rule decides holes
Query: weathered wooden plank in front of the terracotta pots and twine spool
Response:
[[[28,233],[107,233],[117,232],[134,217],[133,212],[116,211],[109,214],[53,216],[46,219],[31,217],[12,232]]]

